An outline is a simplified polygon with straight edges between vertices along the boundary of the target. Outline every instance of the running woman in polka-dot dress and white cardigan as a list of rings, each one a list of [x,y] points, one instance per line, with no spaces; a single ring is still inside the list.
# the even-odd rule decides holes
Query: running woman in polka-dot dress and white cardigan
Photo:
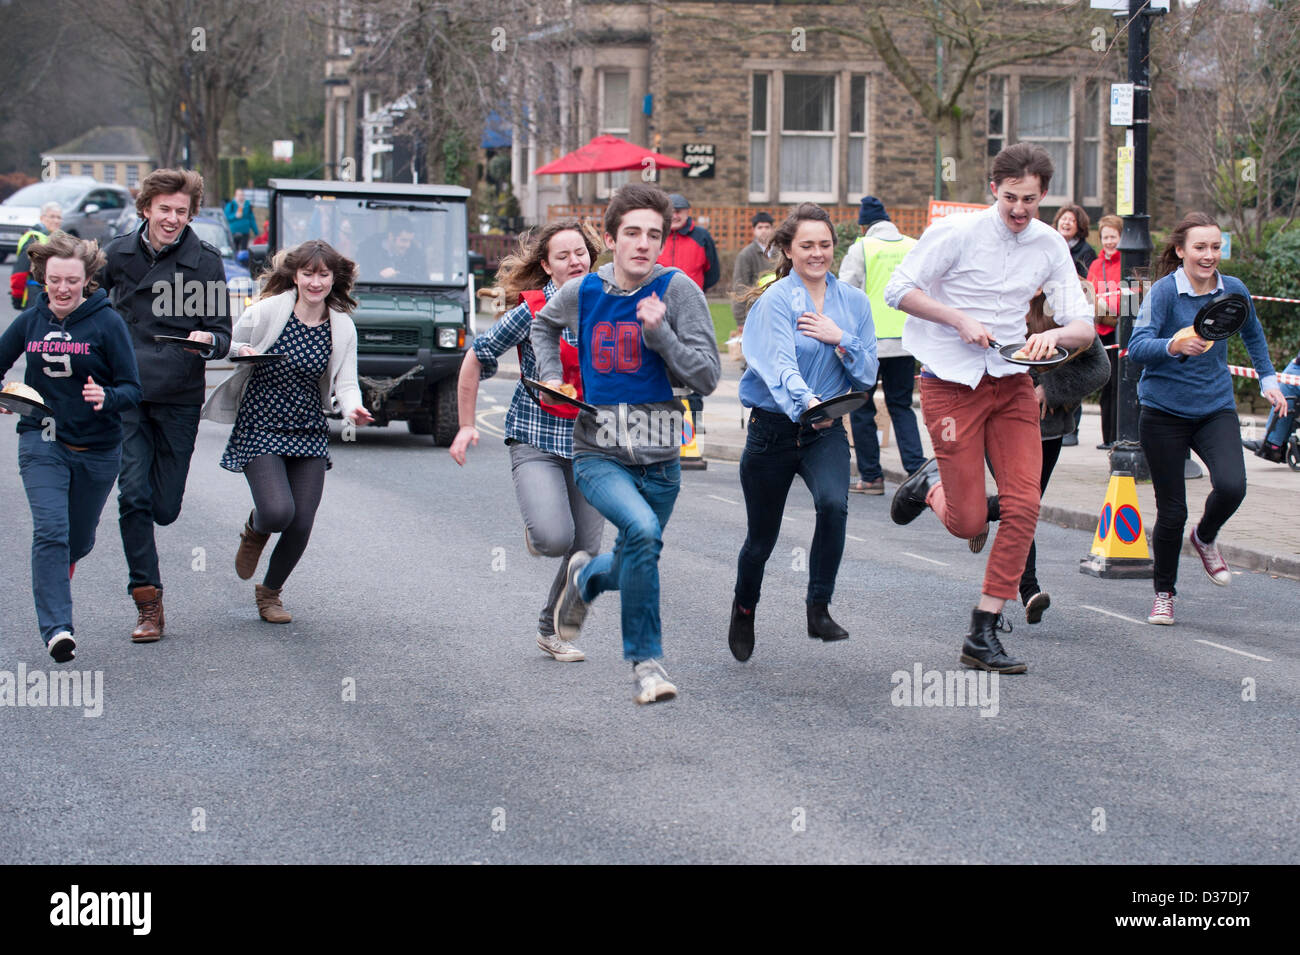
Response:
[[[276,256],[257,301],[239,317],[231,355],[283,355],[243,364],[212,392],[203,417],[233,422],[221,466],[243,472],[254,509],[239,534],[235,573],[248,579],[272,534],[280,542],[254,589],[268,624],[292,620],[280,591],[307,550],[325,490],[330,395],[352,424],[374,418],[356,383],[356,264],[320,239]]]

